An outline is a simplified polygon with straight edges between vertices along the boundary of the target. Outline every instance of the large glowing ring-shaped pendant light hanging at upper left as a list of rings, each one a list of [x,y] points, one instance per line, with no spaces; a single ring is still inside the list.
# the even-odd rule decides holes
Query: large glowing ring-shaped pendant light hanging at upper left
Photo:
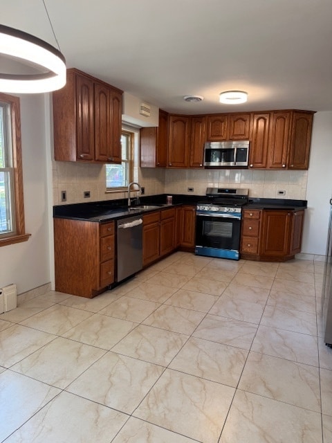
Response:
[[[42,39],[21,30],[0,25],[1,55],[8,55],[21,64],[35,68],[33,73],[27,74],[0,72],[1,92],[42,93],[55,91],[66,84],[64,56]]]

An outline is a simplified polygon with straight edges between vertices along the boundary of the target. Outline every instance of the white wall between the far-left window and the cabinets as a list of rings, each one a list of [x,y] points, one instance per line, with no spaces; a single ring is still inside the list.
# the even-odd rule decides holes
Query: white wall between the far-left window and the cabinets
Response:
[[[0,287],[16,283],[22,293],[50,282],[48,199],[44,94],[22,95],[21,132],[24,212],[27,242],[1,246]]]

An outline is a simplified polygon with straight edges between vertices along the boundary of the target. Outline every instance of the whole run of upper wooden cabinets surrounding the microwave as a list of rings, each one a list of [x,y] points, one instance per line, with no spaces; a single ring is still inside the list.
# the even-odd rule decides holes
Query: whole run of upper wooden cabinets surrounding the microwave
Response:
[[[308,169],[313,111],[202,116],[161,112],[158,128],[140,132],[143,167],[203,168],[206,141],[249,140],[249,168]]]

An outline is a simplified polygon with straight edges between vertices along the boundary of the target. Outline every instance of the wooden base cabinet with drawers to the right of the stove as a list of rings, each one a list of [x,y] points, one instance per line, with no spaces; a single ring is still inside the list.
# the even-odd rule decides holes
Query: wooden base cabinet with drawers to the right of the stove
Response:
[[[243,210],[241,257],[282,262],[301,251],[304,210]]]

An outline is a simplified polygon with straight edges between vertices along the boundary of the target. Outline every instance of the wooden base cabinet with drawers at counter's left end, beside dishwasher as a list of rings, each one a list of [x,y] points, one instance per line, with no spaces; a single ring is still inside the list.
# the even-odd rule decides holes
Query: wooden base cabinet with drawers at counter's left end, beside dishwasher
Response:
[[[54,219],[55,290],[92,298],[114,282],[114,222]]]

